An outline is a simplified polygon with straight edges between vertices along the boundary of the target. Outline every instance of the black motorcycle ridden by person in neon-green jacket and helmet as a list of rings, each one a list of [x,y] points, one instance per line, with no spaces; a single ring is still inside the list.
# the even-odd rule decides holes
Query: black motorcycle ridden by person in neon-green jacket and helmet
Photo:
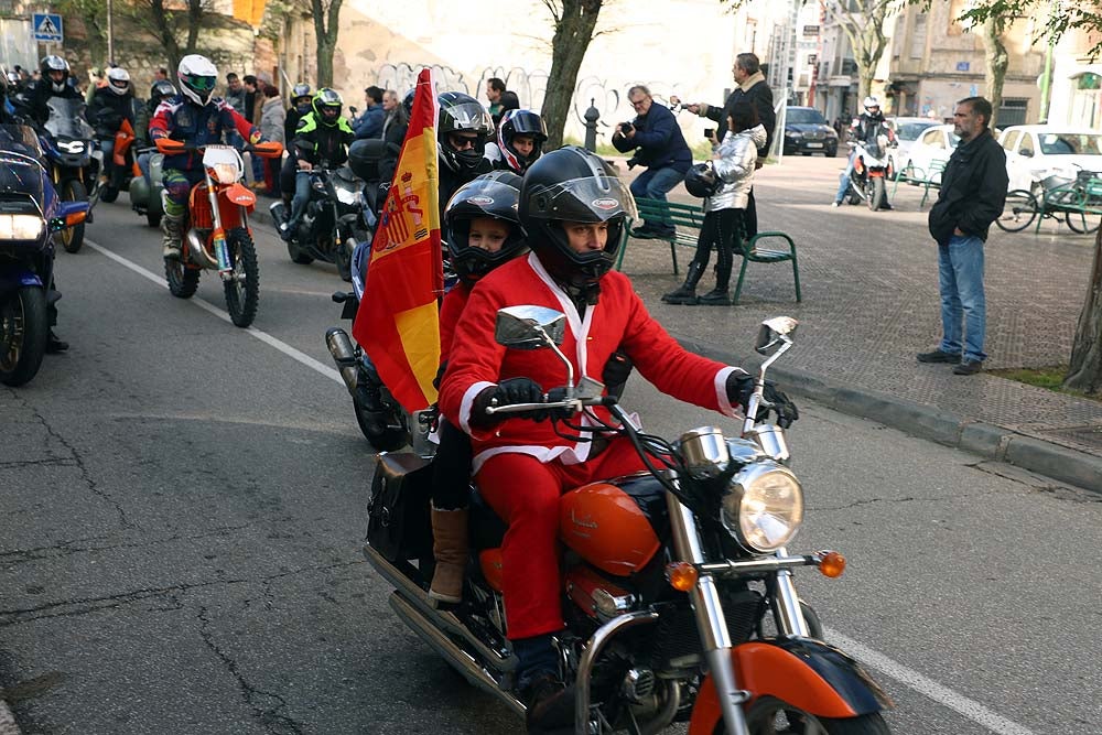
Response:
[[[310,202],[299,226],[287,238],[292,262],[307,266],[315,260],[335,263],[344,281],[352,280],[352,249],[348,238],[367,239],[364,223],[364,182],[347,166],[329,169],[316,165],[310,171]],[[287,221],[290,213],[283,202],[270,207],[272,219]]]

